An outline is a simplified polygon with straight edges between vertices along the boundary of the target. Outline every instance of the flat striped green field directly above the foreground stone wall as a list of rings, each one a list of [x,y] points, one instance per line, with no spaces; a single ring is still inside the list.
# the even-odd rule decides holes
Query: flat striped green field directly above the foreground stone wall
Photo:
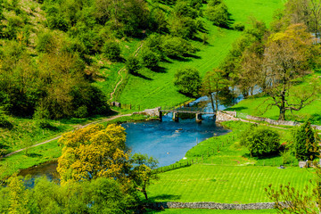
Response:
[[[155,202],[270,202],[264,188],[309,185],[313,169],[192,165],[160,174],[148,188]]]

